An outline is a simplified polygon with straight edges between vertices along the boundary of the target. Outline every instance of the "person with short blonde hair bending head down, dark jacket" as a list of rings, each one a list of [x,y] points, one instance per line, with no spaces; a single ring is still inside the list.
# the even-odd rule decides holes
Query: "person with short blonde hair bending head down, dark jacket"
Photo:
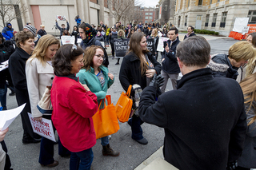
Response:
[[[208,67],[214,77],[238,77],[238,69],[256,56],[256,49],[250,42],[236,42],[230,46],[229,55],[220,53],[211,58]]]

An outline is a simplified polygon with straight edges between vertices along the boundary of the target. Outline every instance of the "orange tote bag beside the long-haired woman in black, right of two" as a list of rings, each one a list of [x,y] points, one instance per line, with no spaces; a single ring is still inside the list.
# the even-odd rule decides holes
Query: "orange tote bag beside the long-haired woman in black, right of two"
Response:
[[[118,120],[122,123],[128,121],[130,116],[130,110],[133,105],[133,100],[130,99],[130,90],[132,85],[129,86],[126,93],[122,92],[118,99],[117,105],[115,105],[115,112],[117,113]]]

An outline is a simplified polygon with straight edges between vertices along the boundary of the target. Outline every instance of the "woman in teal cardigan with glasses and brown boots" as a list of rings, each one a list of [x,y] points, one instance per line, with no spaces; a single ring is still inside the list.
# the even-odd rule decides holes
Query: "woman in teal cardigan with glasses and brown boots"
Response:
[[[87,85],[90,91],[97,96],[98,105],[102,101],[100,109],[103,109],[107,89],[114,83],[114,75],[102,65],[105,59],[102,47],[91,45],[86,48],[84,58],[84,66],[77,73],[77,77],[82,85]],[[119,156],[119,152],[110,148],[108,136],[102,137],[101,140],[103,156]]]

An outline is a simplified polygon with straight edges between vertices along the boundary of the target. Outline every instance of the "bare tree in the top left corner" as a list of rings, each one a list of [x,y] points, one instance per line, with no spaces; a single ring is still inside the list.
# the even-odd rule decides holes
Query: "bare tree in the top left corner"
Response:
[[[20,0],[0,0],[0,19],[4,27],[15,18],[22,18],[28,8]]]

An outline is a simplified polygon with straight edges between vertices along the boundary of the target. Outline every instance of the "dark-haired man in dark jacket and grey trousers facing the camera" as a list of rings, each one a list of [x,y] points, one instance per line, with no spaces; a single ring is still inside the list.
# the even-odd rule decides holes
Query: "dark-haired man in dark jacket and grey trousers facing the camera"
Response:
[[[168,31],[169,40],[167,41],[167,45],[162,53],[162,71],[161,75],[165,78],[164,85],[161,87],[161,92],[165,93],[166,85],[168,79],[172,83],[173,89],[176,89],[178,73],[180,70],[178,68],[178,61],[176,58],[176,47],[179,43],[178,39],[178,29],[176,27],[170,28]]]

